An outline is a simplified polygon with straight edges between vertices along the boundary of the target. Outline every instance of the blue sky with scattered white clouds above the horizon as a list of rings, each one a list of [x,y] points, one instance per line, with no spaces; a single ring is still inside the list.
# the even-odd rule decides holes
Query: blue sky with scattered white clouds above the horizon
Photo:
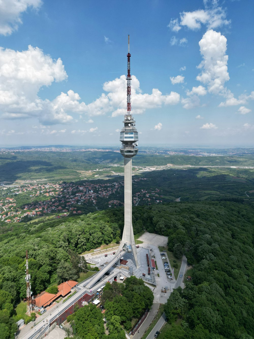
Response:
[[[253,146],[253,1],[2,0],[0,145]]]

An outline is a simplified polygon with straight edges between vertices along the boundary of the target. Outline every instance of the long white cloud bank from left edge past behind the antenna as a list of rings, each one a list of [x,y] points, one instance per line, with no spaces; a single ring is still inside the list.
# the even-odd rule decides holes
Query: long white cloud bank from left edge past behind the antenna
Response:
[[[67,79],[67,74],[60,58],[53,60],[38,47],[28,46],[27,51],[22,52],[0,48],[0,75],[0,112],[4,119],[37,118],[43,125],[51,125],[73,121],[73,113],[91,117],[111,113],[114,117],[126,112],[125,75],[105,82],[105,93],[88,104],[81,102],[79,94],[71,89],[51,101],[42,100],[38,96],[40,88]],[[151,94],[143,94],[135,76],[132,76],[131,86],[134,114],[180,101],[178,93],[162,95],[157,88],[152,89]]]

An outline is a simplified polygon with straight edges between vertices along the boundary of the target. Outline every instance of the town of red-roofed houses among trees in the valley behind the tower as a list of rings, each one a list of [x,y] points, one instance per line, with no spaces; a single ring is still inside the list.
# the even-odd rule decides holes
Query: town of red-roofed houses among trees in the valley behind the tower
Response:
[[[141,180],[146,178],[133,179],[133,183]],[[104,208],[121,206],[124,205],[123,185],[124,180],[110,183],[84,182],[80,185],[62,181],[15,187],[1,185],[0,220],[6,223],[25,222],[48,214],[55,214],[56,218],[83,214],[84,206],[87,205],[93,206],[91,211],[95,211],[94,208],[98,210],[98,201],[104,201]],[[133,204],[162,203],[159,193],[157,188],[155,191],[141,189],[133,194]],[[20,203],[21,196],[23,204]]]

